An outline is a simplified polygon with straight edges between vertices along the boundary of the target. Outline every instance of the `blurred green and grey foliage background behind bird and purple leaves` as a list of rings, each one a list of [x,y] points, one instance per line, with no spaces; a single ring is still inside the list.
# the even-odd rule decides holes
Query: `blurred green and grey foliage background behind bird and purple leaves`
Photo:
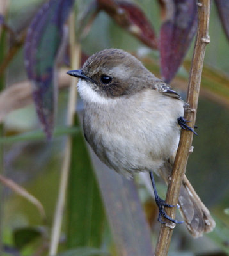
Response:
[[[3,6],[6,4],[3,14],[7,24],[20,33],[20,38],[17,38],[18,44],[14,44],[17,53],[9,61],[4,73],[1,73],[1,100],[11,99],[13,102],[14,97],[17,98],[13,94],[10,98],[4,98],[3,93],[10,86],[19,86],[19,90],[13,93],[29,90],[29,87],[24,87],[28,83],[28,76],[24,66],[23,38],[35,13],[44,2],[3,1]],[[75,40],[79,36],[79,19],[90,3],[90,0],[78,0],[72,5],[77,30]],[[132,3],[145,13],[158,36],[162,24],[159,2],[136,0]],[[93,17],[93,13],[89,13],[88,17]],[[1,29],[0,62],[3,63],[13,40],[6,29]],[[183,225],[178,225],[173,232],[169,255],[229,254],[229,42],[214,4],[209,34],[210,44],[205,54],[196,120],[198,136],[194,136],[194,152],[189,157],[187,177],[209,207],[217,227],[214,232],[200,239],[193,239]],[[109,47],[132,52],[150,71],[160,76],[157,49],[146,47],[118,26],[106,12],[97,15],[86,36],[76,44],[77,47],[81,45],[86,56]],[[183,99],[186,99],[193,45],[194,40],[186,60],[171,82]],[[69,77],[65,77],[65,71],[72,69],[69,63],[74,62],[74,57],[69,56],[70,47],[68,48],[68,54],[65,54],[64,61],[59,64],[59,83],[63,86],[59,90],[56,130],[52,140],[45,139],[31,99],[27,99],[30,104],[22,102],[19,109],[8,111],[10,113],[1,120],[1,177],[9,180],[7,182],[1,179],[4,186],[1,185],[0,255],[51,255],[50,244],[54,243],[52,230],[56,225],[54,216],[67,148],[72,148],[70,178],[67,196],[63,198],[65,211],[61,236],[57,242],[58,255],[152,255],[159,223],[157,207],[146,189],[144,179],[136,177],[136,184],[125,180],[108,170],[86,147],[80,128],[83,109],[80,99],[77,100],[77,117],[74,118],[72,128],[67,125],[68,85],[71,81]],[[3,101],[0,105],[3,106]],[[16,184],[10,186],[10,180],[21,187],[17,188]],[[164,196],[166,186],[159,179],[157,187],[159,194]],[[34,196],[32,204],[28,200],[29,195],[26,198],[21,196],[22,188]]]

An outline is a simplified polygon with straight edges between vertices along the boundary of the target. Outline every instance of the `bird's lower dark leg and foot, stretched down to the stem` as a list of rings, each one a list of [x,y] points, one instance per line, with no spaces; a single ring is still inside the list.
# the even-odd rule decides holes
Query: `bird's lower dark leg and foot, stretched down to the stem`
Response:
[[[157,193],[156,186],[155,186],[155,182],[154,182],[154,175],[151,171],[150,171],[150,179],[151,179],[152,186],[153,186],[153,189],[154,189],[155,202],[156,202],[157,207],[159,209],[159,214],[158,214],[158,219],[157,220],[160,223],[165,224],[165,222],[162,221],[162,216],[163,216],[164,218],[166,218],[167,220],[172,221],[173,223],[177,223],[177,224],[183,223],[184,221],[174,220],[166,214],[166,212],[164,211],[164,207],[177,207],[177,205],[167,204],[161,197],[159,197],[159,195]]]

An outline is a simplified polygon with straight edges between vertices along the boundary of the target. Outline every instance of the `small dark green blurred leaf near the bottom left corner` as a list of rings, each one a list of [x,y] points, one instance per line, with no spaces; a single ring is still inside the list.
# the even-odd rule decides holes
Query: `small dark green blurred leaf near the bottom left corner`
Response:
[[[41,236],[41,232],[35,228],[19,228],[13,233],[15,246],[19,249],[23,248],[39,236]]]

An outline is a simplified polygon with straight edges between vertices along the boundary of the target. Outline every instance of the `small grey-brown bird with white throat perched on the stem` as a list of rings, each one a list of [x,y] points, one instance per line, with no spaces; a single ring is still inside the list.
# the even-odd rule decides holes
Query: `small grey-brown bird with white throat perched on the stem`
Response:
[[[84,102],[83,130],[86,141],[102,162],[132,178],[149,172],[162,216],[168,205],[158,195],[152,171],[168,184],[186,124],[184,102],[173,88],[154,76],[131,54],[105,49],[93,54],[81,70],[67,74],[79,78],[77,89]],[[194,132],[194,131],[193,131]],[[180,212],[194,237],[210,232],[215,222],[209,210],[184,177],[178,199]]]

